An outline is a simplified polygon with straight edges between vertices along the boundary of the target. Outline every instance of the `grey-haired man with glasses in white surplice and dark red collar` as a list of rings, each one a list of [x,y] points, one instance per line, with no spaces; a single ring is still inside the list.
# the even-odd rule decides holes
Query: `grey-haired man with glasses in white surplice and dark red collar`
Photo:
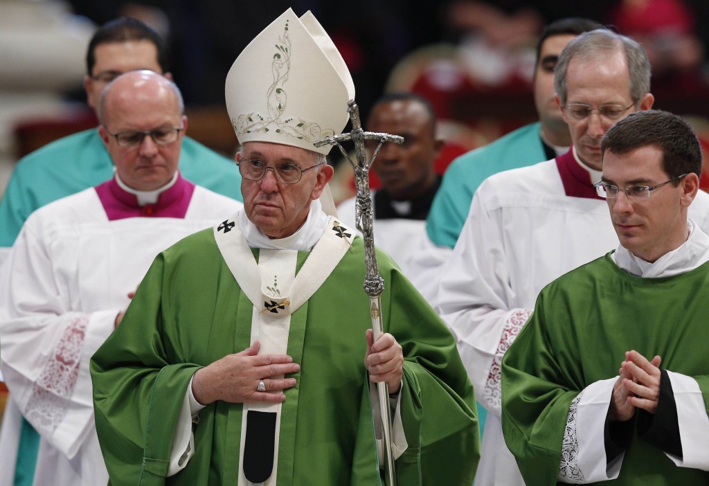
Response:
[[[442,271],[440,307],[488,409],[476,485],[521,485],[503,442],[501,360],[542,287],[618,246],[601,179],[601,137],[633,111],[652,107],[650,65],[634,40],[609,30],[564,47],[554,86],[572,147],[555,159],[486,179],[476,191],[452,258]],[[709,196],[690,213],[709,229]]]

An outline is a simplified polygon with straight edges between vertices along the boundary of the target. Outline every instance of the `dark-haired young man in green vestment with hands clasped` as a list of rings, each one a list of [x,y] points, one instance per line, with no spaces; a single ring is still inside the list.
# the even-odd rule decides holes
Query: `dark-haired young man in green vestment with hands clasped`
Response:
[[[687,216],[700,145],[651,110],[601,153],[620,246],[540,293],[503,358],[506,443],[527,486],[707,484],[709,236]]]

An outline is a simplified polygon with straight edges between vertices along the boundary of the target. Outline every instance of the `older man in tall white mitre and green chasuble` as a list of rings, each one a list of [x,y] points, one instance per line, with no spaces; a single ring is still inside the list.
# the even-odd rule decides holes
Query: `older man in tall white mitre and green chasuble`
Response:
[[[474,391],[452,335],[379,253],[372,339],[362,239],[320,202],[333,168],[313,144],[351,98],[310,12],[289,9],[235,61],[244,210],[160,254],[91,360],[111,485],[382,484],[379,382],[397,484],[471,484]]]

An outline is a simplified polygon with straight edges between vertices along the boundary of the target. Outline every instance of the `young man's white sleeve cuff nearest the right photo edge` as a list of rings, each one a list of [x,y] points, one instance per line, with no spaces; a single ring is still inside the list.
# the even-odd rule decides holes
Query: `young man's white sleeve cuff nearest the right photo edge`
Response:
[[[674,401],[677,405],[683,457],[666,455],[681,468],[709,470],[709,455],[706,453],[709,417],[702,390],[691,376],[673,373],[669,370],[667,375],[672,383]]]

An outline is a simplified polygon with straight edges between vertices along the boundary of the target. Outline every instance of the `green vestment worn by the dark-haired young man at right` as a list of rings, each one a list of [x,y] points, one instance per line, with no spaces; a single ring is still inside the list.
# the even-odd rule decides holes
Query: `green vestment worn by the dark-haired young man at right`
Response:
[[[661,368],[694,378],[707,407],[708,297],[709,263],[677,276],[641,278],[620,269],[611,254],[542,290],[502,362],[503,432],[527,486],[557,484],[571,401],[591,383],[617,377],[625,351],[648,359],[657,354]],[[598,484],[709,484],[709,473],[678,467],[644,441],[638,414],[620,475]]]

